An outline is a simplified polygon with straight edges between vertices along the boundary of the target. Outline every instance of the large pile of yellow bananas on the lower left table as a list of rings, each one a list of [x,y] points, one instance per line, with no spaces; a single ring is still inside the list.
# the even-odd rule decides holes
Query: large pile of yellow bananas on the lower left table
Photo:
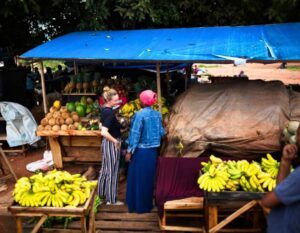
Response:
[[[87,181],[80,174],[52,170],[46,175],[38,173],[22,177],[13,191],[14,200],[21,206],[76,207],[89,198],[97,181]]]

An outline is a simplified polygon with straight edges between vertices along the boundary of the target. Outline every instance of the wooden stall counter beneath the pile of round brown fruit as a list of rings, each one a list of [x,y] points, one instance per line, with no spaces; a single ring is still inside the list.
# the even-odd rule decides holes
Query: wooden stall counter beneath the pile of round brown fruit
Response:
[[[56,168],[63,168],[63,162],[100,162],[100,130],[37,131],[37,136],[49,138],[50,149]]]

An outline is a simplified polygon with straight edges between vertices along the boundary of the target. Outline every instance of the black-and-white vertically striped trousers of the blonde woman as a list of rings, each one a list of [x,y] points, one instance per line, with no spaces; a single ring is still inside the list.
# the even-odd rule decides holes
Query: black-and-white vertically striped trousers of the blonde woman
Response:
[[[111,141],[103,138],[98,194],[110,203],[115,203],[118,199],[119,161],[120,150]]]

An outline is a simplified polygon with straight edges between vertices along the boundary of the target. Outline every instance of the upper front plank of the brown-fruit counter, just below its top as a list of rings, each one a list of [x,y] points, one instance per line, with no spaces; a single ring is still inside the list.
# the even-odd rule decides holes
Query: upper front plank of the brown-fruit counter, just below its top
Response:
[[[101,147],[101,138],[98,136],[61,136],[63,146]]]

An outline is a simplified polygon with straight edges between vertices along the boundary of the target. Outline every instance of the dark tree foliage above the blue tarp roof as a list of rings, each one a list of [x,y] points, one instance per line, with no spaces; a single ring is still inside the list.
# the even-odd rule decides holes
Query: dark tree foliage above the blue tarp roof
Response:
[[[300,21],[300,0],[0,1],[0,47],[14,53],[78,30],[251,25]]]

